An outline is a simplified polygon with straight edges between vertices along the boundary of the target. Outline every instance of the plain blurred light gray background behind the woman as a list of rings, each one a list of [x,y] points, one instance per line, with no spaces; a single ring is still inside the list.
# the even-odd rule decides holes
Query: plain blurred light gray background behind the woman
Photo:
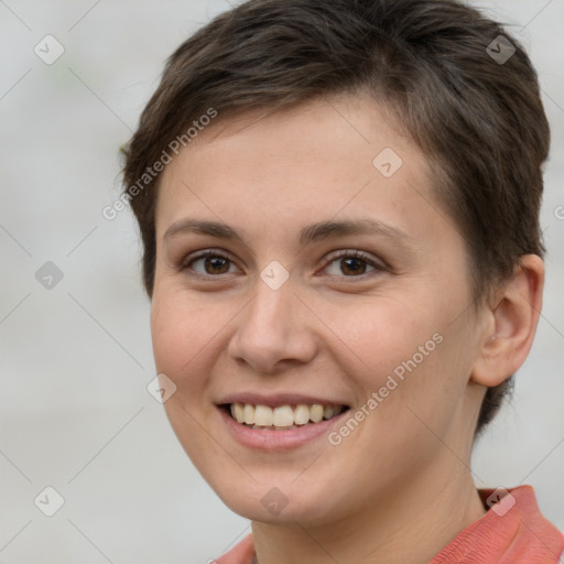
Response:
[[[564,530],[564,1],[477,6],[529,50],[553,145],[543,317],[474,469],[480,486],[534,486]],[[248,532],[145,389],[155,373],[137,227],[129,210],[101,215],[119,194],[118,148],[164,59],[228,8],[0,1],[0,563],[204,563]],[[52,65],[34,53],[46,34],[65,50]],[[51,290],[35,278],[47,261],[64,274]],[[46,486],[65,500],[51,518],[34,505]]]

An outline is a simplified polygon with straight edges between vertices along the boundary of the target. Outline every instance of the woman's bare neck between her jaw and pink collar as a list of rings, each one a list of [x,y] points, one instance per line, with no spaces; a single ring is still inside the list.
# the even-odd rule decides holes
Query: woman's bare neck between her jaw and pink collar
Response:
[[[469,473],[453,464],[448,479],[432,476],[354,516],[326,525],[254,521],[259,564],[427,564],[486,512]]]

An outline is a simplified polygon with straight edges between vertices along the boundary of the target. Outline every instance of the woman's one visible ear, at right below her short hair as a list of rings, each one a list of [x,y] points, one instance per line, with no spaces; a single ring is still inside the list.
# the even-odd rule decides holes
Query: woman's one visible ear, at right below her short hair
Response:
[[[524,254],[485,312],[479,357],[471,372],[474,382],[498,386],[524,362],[541,315],[543,288],[542,259]]]

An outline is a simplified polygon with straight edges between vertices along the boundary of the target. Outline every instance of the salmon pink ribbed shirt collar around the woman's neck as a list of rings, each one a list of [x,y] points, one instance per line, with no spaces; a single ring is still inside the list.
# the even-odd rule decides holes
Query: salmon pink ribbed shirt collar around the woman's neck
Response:
[[[564,535],[542,516],[531,486],[510,489],[499,500],[497,490],[478,491],[491,508],[429,564],[564,564]],[[249,534],[215,562],[256,564],[254,556]]]

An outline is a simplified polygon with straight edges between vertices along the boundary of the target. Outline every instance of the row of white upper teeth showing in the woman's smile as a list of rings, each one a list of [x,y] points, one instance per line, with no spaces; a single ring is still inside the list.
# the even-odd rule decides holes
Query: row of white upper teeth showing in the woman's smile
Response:
[[[341,405],[313,405],[300,404],[280,405],[252,405],[250,403],[231,403],[231,415],[238,423],[259,426],[290,427],[292,425],[305,425],[310,421],[318,423],[323,419],[330,419],[343,411]]]

